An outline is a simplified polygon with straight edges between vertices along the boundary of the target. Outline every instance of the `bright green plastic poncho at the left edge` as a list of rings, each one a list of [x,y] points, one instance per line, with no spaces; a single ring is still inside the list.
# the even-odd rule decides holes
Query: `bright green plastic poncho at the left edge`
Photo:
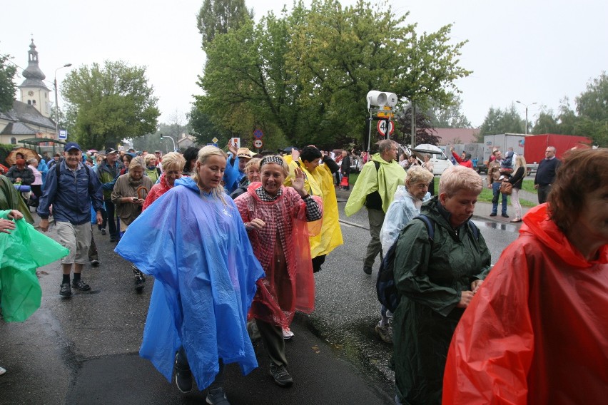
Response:
[[[0,217],[8,212],[0,212]],[[0,302],[6,322],[24,322],[36,312],[42,298],[36,268],[69,252],[25,220],[16,221],[11,233],[0,233]]]

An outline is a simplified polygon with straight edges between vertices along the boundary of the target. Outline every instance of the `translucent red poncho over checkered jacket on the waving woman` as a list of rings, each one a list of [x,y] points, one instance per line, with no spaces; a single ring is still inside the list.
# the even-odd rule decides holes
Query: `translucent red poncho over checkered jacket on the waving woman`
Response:
[[[320,232],[322,221],[306,222],[306,204],[293,188],[282,186],[283,195],[265,202],[255,193],[258,187],[262,187],[261,183],[250,184],[247,193],[234,201],[243,222],[254,218],[265,222],[261,230],[248,232],[255,257],[266,273],[265,278],[258,280],[251,314],[263,322],[288,327],[295,311],[310,313],[315,309],[308,237]],[[323,207],[320,198],[313,198]],[[277,235],[285,252],[287,272],[275,272]]]

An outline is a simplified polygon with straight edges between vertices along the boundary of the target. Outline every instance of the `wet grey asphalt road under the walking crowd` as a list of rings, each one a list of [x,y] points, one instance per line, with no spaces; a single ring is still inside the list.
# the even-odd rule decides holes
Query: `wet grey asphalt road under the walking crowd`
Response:
[[[226,390],[233,404],[391,404],[392,347],[374,332],[380,304],[375,276],[363,273],[369,240],[365,210],[340,217],[345,245],[332,252],[316,278],[313,314],[298,314],[287,344],[295,379],[281,389],[268,376],[268,360],[256,344],[260,367],[242,376],[228,366]],[[492,262],[517,237],[516,227],[478,218]],[[51,228],[51,236],[53,236]],[[22,324],[0,324],[0,404],[202,404],[204,394],[183,395],[138,357],[153,280],[142,294],[132,289],[127,262],[95,230],[101,266],[86,266],[90,293],[59,297],[59,262],[39,269],[41,308]]]

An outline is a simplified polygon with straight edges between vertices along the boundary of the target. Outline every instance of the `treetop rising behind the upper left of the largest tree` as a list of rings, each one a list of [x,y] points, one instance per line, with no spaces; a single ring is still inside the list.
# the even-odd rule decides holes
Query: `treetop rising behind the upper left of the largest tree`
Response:
[[[205,0],[196,19],[203,49],[219,34],[226,34],[228,29],[236,29],[249,20],[253,20],[253,10],[245,7],[245,0]]]

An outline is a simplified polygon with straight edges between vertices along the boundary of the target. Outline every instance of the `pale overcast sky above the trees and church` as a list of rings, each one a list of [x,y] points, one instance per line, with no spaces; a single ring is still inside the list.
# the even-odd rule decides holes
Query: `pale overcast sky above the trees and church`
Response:
[[[245,0],[255,18],[280,13],[291,1]],[[306,1],[310,4],[310,1]],[[343,0],[343,5],[354,4]],[[146,66],[159,98],[161,122],[190,111],[205,55],[196,29],[202,0],[89,2],[81,0],[6,1],[0,24],[0,53],[27,66],[33,36],[40,67],[52,88],[55,69],[104,60]],[[454,24],[453,41],[468,40],[462,66],[474,71],[457,85],[463,111],[481,125],[490,106],[504,108],[516,100],[557,110],[565,96],[584,91],[589,79],[608,70],[608,1],[606,0],[392,0],[392,11],[432,32]],[[16,78],[21,84],[21,68]],[[61,82],[69,68],[57,72]],[[391,89],[379,89],[390,91]],[[52,97],[52,96],[51,96]],[[538,105],[531,104],[537,102]],[[520,108],[524,116],[525,108]]]

